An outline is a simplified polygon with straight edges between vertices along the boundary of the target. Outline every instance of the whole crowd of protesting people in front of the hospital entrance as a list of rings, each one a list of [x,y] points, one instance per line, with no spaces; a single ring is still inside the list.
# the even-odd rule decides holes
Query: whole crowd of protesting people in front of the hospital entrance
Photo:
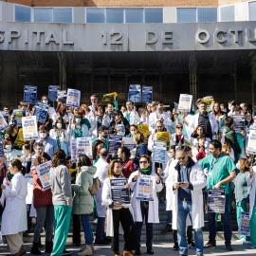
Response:
[[[230,210],[236,210],[237,224],[242,212],[249,212],[250,236],[241,235],[239,243],[256,248],[256,158],[247,152],[248,133],[256,129],[256,117],[247,103],[229,104],[204,99],[195,101],[197,110],[177,111],[165,108],[162,101],[137,107],[117,99],[106,106],[90,97],[91,104],[80,108],[58,101],[49,106],[46,121],[38,122],[38,139],[19,137],[22,125],[8,106],[9,127],[1,131],[4,158],[0,158],[1,234],[6,238],[10,255],[26,253],[23,233],[33,232],[30,253],[42,254],[42,231],[46,232],[45,251],[51,256],[69,255],[64,246],[73,221],[73,244],[81,247],[81,226],[85,245],[79,256],[93,255],[94,245],[109,245],[120,255],[119,234],[123,234],[123,255],[141,255],[141,230],[146,226],[146,248],[154,254],[154,224],[159,223],[159,199],[164,198],[167,220],[161,232],[173,231],[174,250],[188,255],[195,248],[216,247],[218,212],[207,210],[210,190],[225,190],[224,213],[221,213],[226,248],[231,246]],[[41,101],[48,102],[47,96]],[[21,101],[18,108],[33,115],[33,107]],[[165,111],[166,110],[166,111]],[[233,115],[245,115],[242,132],[233,129]],[[148,136],[138,129],[147,125]],[[153,161],[157,133],[168,132],[170,141],[165,163]],[[130,137],[134,149],[123,144],[109,153],[109,135]],[[91,137],[92,156],[77,154],[71,158],[70,140]],[[44,190],[37,167],[51,161],[50,189]],[[138,180],[153,180],[150,199],[141,200]],[[130,204],[115,201],[112,179],[126,178]],[[101,183],[101,186],[99,186]],[[202,228],[208,214],[209,241],[204,245]],[[97,224],[91,227],[92,217]],[[35,225],[34,229],[32,226]],[[193,235],[192,235],[193,233]],[[194,237],[194,241],[192,239]],[[41,249],[40,249],[41,248]]]

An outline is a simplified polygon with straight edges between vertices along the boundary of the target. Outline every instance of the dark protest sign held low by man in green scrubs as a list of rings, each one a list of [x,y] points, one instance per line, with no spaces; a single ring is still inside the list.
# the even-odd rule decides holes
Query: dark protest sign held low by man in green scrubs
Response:
[[[225,190],[208,190],[208,212],[225,212],[226,193]]]

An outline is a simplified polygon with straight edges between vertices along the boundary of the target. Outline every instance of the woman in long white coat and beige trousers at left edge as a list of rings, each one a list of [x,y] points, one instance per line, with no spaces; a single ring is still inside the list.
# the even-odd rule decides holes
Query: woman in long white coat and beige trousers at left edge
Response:
[[[9,167],[10,174],[14,176],[7,185],[1,185],[6,196],[1,232],[7,238],[10,253],[20,256],[26,253],[22,240],[23,231],[27,230],[27,181],[24,176],[26,168],[18,159],[11,161]]]

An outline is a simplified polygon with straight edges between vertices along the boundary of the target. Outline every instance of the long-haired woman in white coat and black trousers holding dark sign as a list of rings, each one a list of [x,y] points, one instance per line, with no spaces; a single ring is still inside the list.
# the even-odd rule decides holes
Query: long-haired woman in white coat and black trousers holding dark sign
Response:
[[[133,249],[137,247],[135,223],[133,215],[129,210],[129,206],[122,206],[119,202],[112,199],[110,181],[114,178],[123,178],[121,175],[121,165],[118,159],[112,160],[109,164],[108,174],[104,180],[102,189],[102,205],[107,207],[107,236],[113,236],[112,250],[115,256],[119,254],[119,228],[124,231],[124,247],[123,256],[134,256]],[[130,185],[125,185],[126,189],[130,189]],[[121,227],[119,227],[121,223]]]

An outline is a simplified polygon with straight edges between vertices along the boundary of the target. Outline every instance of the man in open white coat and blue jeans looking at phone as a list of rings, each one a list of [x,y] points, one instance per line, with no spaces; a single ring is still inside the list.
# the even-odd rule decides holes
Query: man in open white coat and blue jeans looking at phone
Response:
[[[179,255],[188,255],[186,219],[192,221],[196,255],[203,255],[204,202],[202,189],[206,177],[201,167],[188,155],[186,147],[176,149],[177,161],[169,169],[166,187],[172,191],[173,229],[177,229]],[[176,226],[176,227],[175,227]]]

